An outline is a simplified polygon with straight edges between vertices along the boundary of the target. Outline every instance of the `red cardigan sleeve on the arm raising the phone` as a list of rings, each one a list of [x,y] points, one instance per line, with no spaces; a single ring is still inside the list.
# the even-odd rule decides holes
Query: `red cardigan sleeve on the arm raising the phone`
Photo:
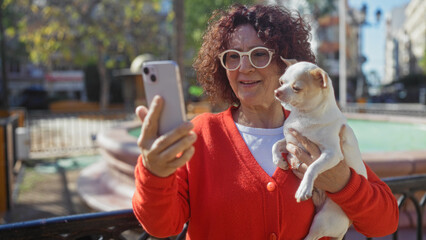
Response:
[[[135,168],[133,212],[149,234],[163,238],[178,235],[189,219],[185,169],[166,178],[153,175],[139,157]]]

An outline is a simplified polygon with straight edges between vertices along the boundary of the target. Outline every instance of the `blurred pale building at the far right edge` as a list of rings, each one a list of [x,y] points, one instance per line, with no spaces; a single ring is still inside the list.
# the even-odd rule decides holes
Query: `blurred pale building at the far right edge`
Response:
[[[426,104],[425,12],[426,1],[412,0],[386,16],[383,94],[396,102]]]

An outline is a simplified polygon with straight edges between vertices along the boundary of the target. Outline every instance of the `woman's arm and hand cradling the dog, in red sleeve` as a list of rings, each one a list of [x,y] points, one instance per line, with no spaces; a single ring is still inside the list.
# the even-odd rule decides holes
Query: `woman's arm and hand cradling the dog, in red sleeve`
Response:
[[[344,127],[341,129],[343,132]],[[306,149],[288,144],[287,150],[303,164],[293,172],[303,178],[307,167],[317,159],[318,146],[297,131],[291,134]],[[342,139],[342,138],[341,138]],[[343,155],[345,153],[343,152]],[[398,227],[398,204],[389,187],[368,167],[366,179],[341,161],[332,169],[320,174],[315,187],[323,189],[353,221],[354,227],[367,237],[392,234]]]

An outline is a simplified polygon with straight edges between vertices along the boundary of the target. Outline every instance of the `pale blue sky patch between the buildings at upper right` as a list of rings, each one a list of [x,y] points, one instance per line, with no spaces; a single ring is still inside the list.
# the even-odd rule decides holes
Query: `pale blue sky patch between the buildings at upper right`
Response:
[[[349,6],[361,9],[362,5],[367,4],[367,22],[368,26],[364,26],[362,48],[363,53],[367,57],[364,63],[364,73],[372,70],[377,71],[380,78],[384,75],[385,65],[385,37],[386,37],[386,15],[390,14],[393,8],[403,6],[409,3],[409,0],[349,0]],[[380,22],[376,23],[376,10],[382,11]]]

